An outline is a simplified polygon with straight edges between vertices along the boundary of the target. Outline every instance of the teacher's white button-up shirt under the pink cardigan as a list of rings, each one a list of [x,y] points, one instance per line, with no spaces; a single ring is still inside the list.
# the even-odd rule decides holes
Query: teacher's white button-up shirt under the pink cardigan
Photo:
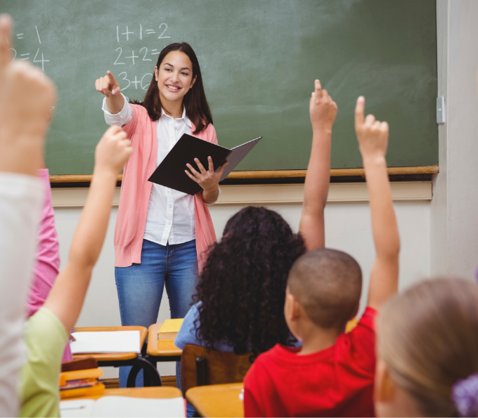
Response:
[[[105,98],[103,112],[105,112],[105,121],[108,125],[123,126],[131,120],[131,105],[127,98],[124,98],[124,106],[116,115],[109,112]],[[179,119],[166,115],[162,110],[161,117],[156,122],[156,166],[160,165],[179,138],[183,136],[183,133],[190,134],[191,126],[192,124],[186,116],[186,110],[183,110],[183,116]],[[211,204],[213,203],[215,202]],[[168,242],[169,244],[188,242],[194,240],[195,236],[194,196],[153,183],[144,239],[166,245]]]

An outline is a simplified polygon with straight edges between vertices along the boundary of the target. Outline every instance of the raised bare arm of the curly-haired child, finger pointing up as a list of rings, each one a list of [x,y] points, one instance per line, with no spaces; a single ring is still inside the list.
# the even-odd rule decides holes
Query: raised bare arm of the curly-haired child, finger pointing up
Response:
[[[309,102],[312,123],[312,150],[304,184],[304,205],[299,233],[304,238],[307,251],[325,247],[323,210],[327,203],[330,183],[330,138],[337,115],[337,105],[321,82],[315,81],[315,91]]]

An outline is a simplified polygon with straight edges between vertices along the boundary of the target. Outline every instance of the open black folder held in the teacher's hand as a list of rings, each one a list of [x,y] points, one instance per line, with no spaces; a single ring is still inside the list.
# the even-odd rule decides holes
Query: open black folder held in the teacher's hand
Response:
[[[229,164],[221,176],[220,181],[223,181],[261,138],[253,139],[229,150],[228,148],[184,133],[148,180],[164,185],[167,188],[179,190],[188,195],[195,195],[201,190],[201,186],[191,180],[184,172],[184,170],[188,169],[186,164],[189,163],[195,170],[199,171],[198,166],[194,162],[194,159],[197,158],[207,170],[209,168],[207,157],[211,157],[214,171],[217,171],[222,164],[228,162]]]

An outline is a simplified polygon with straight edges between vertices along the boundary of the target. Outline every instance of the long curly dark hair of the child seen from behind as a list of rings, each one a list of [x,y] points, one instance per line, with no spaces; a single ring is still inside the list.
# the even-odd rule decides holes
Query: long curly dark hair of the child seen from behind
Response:
[[[295,339],[284,318],[285,286],[304,240],[277,212],[245,207],[232,216],[202,271],[195,302],[198,337],[214,348],[227,341],[236,354],[255,355]]]

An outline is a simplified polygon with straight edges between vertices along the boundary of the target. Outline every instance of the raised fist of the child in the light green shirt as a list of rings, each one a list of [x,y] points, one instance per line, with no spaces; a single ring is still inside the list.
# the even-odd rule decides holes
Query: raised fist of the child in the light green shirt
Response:
[[[131,141],[120,126],[111,126],[101,137],[95,150],[95,172],[120,173],[133,153]]]

